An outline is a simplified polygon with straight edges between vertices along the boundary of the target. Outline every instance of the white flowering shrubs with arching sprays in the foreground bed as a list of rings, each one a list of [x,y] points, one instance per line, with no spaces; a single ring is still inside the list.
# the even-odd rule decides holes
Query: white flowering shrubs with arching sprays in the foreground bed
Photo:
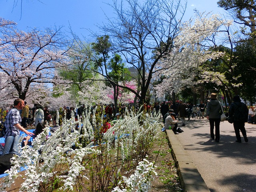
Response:
[[[103,115],[99,108],[93,114],[88,108],[81,121],[72,115],[51,136],[46,127],[33,140],[33,147],[23,147],[20,156],[13,158],[0,191],[8,190],[22,166],[27,168],[22,192],[147,191],[155,172],[154,164],[145,158],[160,131],[159,116],[126,111],[103,134]]]

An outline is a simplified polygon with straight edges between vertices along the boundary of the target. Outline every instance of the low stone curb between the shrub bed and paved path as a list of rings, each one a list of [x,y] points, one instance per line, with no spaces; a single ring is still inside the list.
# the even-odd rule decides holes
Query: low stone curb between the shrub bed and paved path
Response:
[[[172,130],[166,130],[168,144],[172,149],[172,158],[177,167],[180,185],[185,192],[210,192],[201,174],[184,150]]]

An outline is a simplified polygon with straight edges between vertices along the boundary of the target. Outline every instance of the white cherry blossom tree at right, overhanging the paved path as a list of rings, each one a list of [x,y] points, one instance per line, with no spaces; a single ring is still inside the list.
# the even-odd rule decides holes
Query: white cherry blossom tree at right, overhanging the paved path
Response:
[[[229,26],[232,21],[226,21],[219,15],[208,16],[204,13],[196,12],[197,18],[184,22],[180,27],[180,34],[174,40],[173,51],[164,60],[158,63],[158,68],[164,71],[158,77],[164,75],[166,78],[158,85],[158,95],[162,96],[165,92],[180,92],[184,87],[212,82],[217,86],[230,89],[230,84],[220,70],[206,67],[207,61],[222,58],[226,63],[227,70],[232,72],[233,63],[232,53],[228,54],[225,50],[218,48],[228,40],[233,46],[232,34]],[[220,35],[221,34],[221,35]],[[223,35],[226,38],[223,41]],[[219,39],[218,39],[219,38]],[[220,39],[222,38],[222,41]],[[209,63],[210,64],[210,63]],[[234,74],[232,75],[234,77]],[[234,77],[235,78],[235,77]],[[232,87],[240,86],[234,82]]]

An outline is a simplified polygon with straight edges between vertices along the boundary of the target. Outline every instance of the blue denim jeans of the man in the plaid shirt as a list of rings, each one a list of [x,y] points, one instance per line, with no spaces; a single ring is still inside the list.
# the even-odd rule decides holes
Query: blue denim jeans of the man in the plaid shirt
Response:
[[[13,154],[19,154],[19,145],[20,145],[20,135],[17,136],[8,136],[5,139],[5,145],[3,154],[13,153]]]

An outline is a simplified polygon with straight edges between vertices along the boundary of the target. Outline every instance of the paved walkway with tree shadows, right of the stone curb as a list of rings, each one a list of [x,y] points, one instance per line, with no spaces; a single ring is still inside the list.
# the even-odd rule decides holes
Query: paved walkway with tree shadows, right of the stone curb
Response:
[[[246,124],[249,142],[235,142],[233,124],[220,122],[220,142],[210,138],[206,118],[188,121],[176,135],[211,192],[256,192],[256,125]],[[241,134],[242,135],[242,134]]]

